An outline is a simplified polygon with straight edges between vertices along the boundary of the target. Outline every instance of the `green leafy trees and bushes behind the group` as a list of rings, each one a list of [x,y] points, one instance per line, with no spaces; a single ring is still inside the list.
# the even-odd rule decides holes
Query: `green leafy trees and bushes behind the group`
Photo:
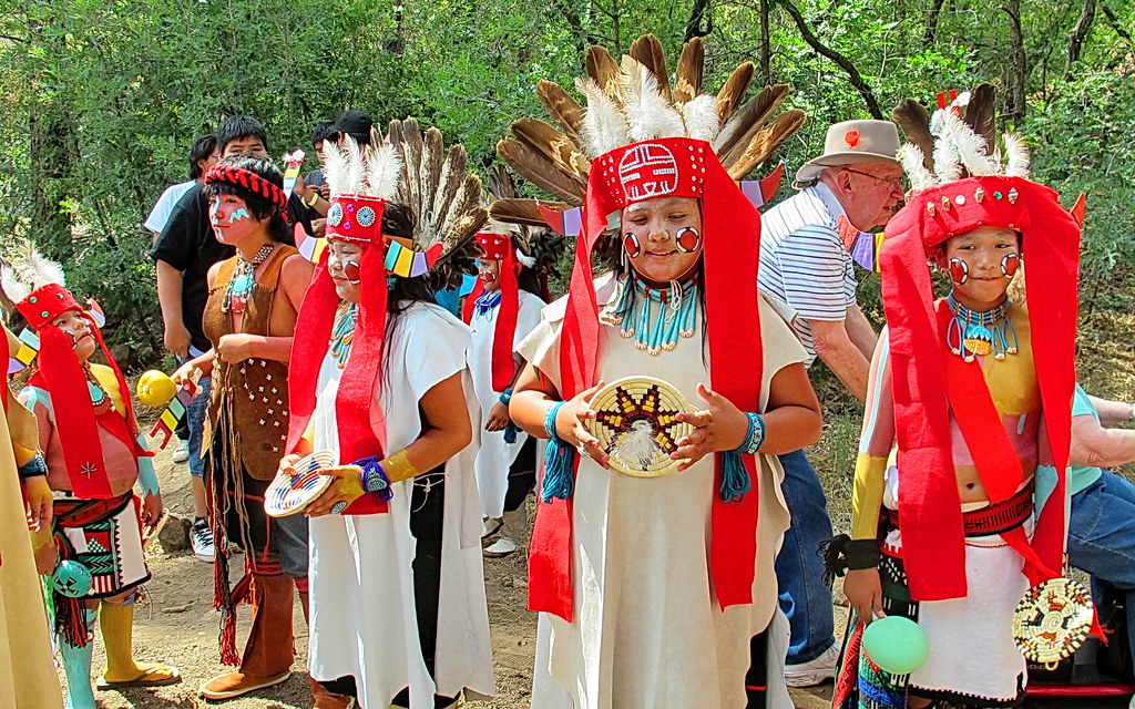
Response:
[[[810,117],[779,155],[791,172],[818,150],[830,123],[869,113],[847,73],[802,39],[783,10],[788,1],[768,3],[766,78],[792,84],[789,104]],[[858,69],[883,112],[907,95],[932,101],[944,88],[1015,81],[1000,5],[792,5],[819,42]],[[1126,209],[1135,197],[1135,99],[1125,91],[1135,49],[1125,27],[1135,10],[1101,2],[1066,79],[1079,5],[1022,5],[1029,102],[1022,129],[1037,147],[1037,179],[1068,203],[1090,194],[1085,282],[1099,287],[1135,256]],[[0,229],[62,259],[75,289],[102,299],[119,352],[132,365],[153,363],[161,320],[141,222],[168,184],[185,179],[190,144],[218,120],[258,117],[281,153],[308,147],[314,124],[346,108],[380,121],[413,115],[463,142],[485,170],[512,120],[544,116],[536,81],[570,85],[589,42],[627,51],[654,32],[673,67],[687,33],[708,31],[706,87],[714,91],[738,62],[759,65],[758,8],[731,0],[0,0]],[[877,281],[868,278],[863,294],[877,319]]]

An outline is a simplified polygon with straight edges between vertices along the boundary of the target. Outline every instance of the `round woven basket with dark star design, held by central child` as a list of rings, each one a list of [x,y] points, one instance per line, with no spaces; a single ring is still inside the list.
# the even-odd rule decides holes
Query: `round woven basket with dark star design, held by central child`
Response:
[[[628,377],[599,389],[590,406],[597,415],[588,429],[611,456],[611,467],[636,478],[657,478],[678,467],[670,454],[693,431],[678,414],[695,408],[672,385]]]

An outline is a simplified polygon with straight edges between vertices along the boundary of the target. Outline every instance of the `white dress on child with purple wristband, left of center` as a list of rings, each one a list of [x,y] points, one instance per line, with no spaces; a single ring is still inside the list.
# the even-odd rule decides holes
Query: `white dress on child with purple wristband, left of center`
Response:
[[[415,303],[397,315],[384,347],[382,386],[371,408],[376,423],[384,419],[385,453],[401,450],[421,434],[418,402],[435,385],[464,372],[463,383],[471,393],[468,346],[469,329],[439,306]],[[338,453],[335,395],[342,374],[328,353],[312,416],[316,450]],[[476,400],[466,396],[466,402],[470,421],[477,421]],[[411,687],[411,709],[431,708],[435,692],[454,697],[464,687],[494,693],[480,500],[472,474],[476,428],[473,442],[445,465],[436,684],[422,659],[414,611],[413,481],[394,483],[386,514],[311,520],[308,666],[317,680],[354,676],[364,707],[385,708],[405,686]]]

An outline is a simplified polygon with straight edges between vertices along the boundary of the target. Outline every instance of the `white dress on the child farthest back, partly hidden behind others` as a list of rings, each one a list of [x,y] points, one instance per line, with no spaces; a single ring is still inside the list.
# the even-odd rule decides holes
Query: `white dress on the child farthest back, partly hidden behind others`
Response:
[[[545,303],[539,296],[521,290],[518,298],[520,309],[516,313],[516,330],[513,347],[540,323],[540,310]],[[486,517],[499,517],[504,514],[504,496],[508,490],[508,469],[520,455],[520,449],[528,440],[528,433],[516,434],[516,442],[504,442],[504,431],[486,431],[485,421],[493,405],[501,400],[501,391],[493,389],[493,340],[496,334],[499,304],[484,315],[473,311],[469,327],[473,331],[472,346],[469,348],[469,369],[473,374],[473,390],[481,404],[481,447],[477,451],[474,470],[477,472],[477,489],[481,493],[481,514]]]

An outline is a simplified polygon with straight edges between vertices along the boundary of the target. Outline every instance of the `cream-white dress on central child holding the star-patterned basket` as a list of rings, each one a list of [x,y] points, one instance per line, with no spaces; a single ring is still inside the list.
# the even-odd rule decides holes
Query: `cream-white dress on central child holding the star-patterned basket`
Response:
[[[617,294],[609,276],[598,278],[596,289],[600,306]],[[547,306],[544,321],[520,346],[521,355],[557,387],[565,303]],[[772,377],[804,362],[806,353],[764,299],[760,320],[763,410]],[[674,351],[655,356],[622,338],[619,327],[599,329],[598,379],[656,377],[693,406],[705,406],[697,394],[699,382],[709,383],[700,318],[693,337],[680,338]],[[541,666],[536,668],[533,709],[745,708],[749,641],[773,623],[773,562],[789,525],[780,489],[783,469],[775,456],[758,461],[750,492],[760,496],[754,602],[724,613],[709,573],[711,512],[717,495],[713,457],[659,478],[634,478],[604,470],[588,457],[581,461],[572,504],[574,622],[541,614],[541,630],[549,632],[538,634]],[[770,638],[767,697],[773,709],[792,706],[783,684],[783,630],[781,621]]]

